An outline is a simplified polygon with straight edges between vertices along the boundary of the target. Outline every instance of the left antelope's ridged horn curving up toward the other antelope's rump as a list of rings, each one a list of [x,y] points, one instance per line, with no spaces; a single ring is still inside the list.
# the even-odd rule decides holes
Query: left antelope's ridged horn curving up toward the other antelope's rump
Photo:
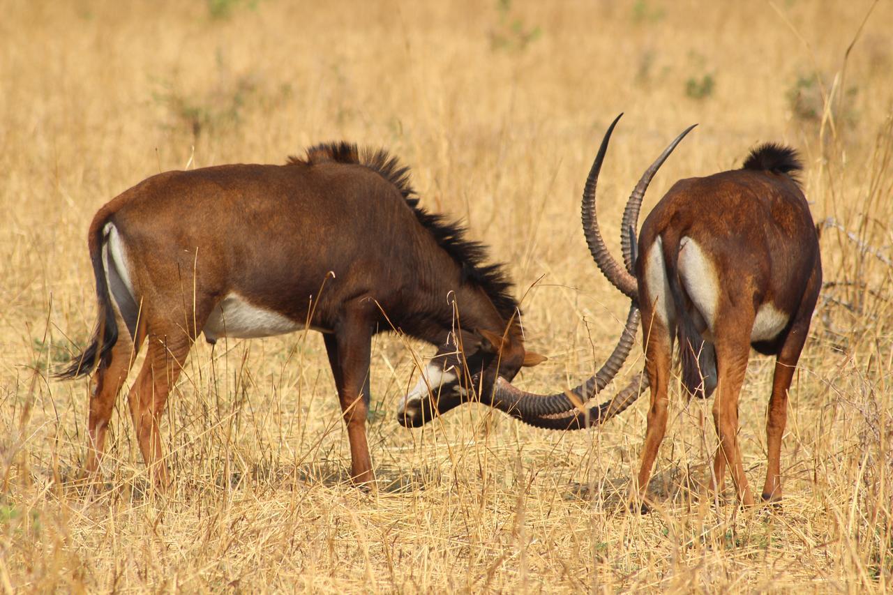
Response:
[[[560,392],[555,395],[535,395],[516,389],[509,382],[498,379],[493,390],[490,406],[493,406],[508,415],[520,419],[524,423],[530,423],[538,428],[565,429],[568,423],[555,425],[553,418],[570,420],[578,415],[577,406],[586,403],[597,393],[613,381],[614,376],[620,371],[626,357],[630,355],[633,341],[636,339],[638,329],[638,308],[630,305],[630,313],[626,317],[626,325],[623,327],[620,340],[613,349],[611,356],[605,361],[605,365],[595,375],[583,382],[577,388],[567,393]],[[580,427],[584,427],[580,425]]]

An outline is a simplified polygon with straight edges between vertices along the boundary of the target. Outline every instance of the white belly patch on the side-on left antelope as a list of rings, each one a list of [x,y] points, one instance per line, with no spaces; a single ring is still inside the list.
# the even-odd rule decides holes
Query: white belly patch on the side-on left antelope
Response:
[[[296,323],[278,312],[253,306],[237,293],[230,293],[208,316],[204,323],[204,336],[210,341],[218,337],[255,339],[303,328],[304,324]]]

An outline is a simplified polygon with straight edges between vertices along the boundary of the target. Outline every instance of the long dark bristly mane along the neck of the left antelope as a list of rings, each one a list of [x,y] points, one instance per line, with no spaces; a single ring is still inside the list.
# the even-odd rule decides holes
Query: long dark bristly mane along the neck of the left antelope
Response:
[[[467,230],[459,222],[451,222],[444,215],[430,213],[419,206],[419,196],[409,182],[409,168],[388,154],[383,148],[359,149],[354,143],[322,143],[307,149],[304,158],[291,156],[288,163],[314,165],[316,163],[355,163],[388,180],[400,194],[406,205],[413,209],[421,225],[430,231],[437,241],[453,258],[462,271],[462,281],[470,282],[482,289],[496,306],[499,315],[506,321],[512,320],[518,309],[518,302],[512,297],[512,282],[508,279],[503,264],[487,264],[487,247],[473,239],[467,239]]]

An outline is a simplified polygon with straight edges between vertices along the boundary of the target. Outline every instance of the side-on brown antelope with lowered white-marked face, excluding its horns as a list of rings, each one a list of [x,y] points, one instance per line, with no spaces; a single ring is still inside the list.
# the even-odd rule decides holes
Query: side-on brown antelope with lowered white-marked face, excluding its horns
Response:
[[[424,423],[543,359],[525,352],[503,269],[464,230],[418,205],[409,172],[383,150],[313,147],[285,165],[166,172],[96,213],[88,232],[99,318],[60,376],[95,370],[86,471],[96,472],[115,398],[138,349],[129,392],[150,473],[166,485],[159,423],[199,333],[323,333],[350,441],[355,482],[373,480],[365,421],[371,337],[396,329],[438,346],[400,406]],[[461,356],[460,354],[465,354]]]

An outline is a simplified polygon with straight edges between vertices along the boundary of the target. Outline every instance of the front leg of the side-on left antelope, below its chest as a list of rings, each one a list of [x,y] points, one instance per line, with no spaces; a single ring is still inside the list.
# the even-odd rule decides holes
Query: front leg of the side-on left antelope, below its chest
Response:
[[[371,325],[361,316],[346,316],[334,334],[324,335],[326,353],[335,383],[341,412],[350,442],[350,475],[358,485],[372,486],[375,475],[366,440],[369,412],[369,362]]]

